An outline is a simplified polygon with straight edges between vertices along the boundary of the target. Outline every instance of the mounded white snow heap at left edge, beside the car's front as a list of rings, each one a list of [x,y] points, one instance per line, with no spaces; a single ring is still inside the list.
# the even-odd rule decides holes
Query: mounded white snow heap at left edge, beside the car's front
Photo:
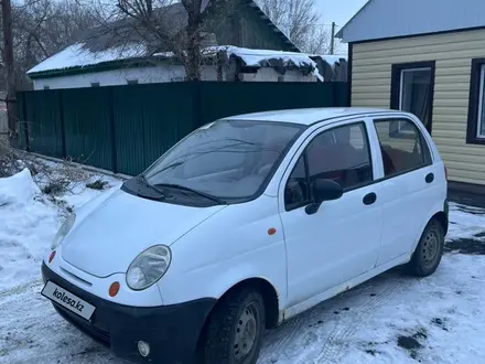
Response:
[[[0,179],[0,292],[39,279],[40,263],[58,226],[28,169]]]

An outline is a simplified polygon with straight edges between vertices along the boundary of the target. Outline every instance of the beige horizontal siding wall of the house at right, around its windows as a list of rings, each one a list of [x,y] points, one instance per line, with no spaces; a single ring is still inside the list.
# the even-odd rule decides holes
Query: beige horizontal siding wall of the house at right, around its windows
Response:
[[[485,185],[485,146],[466,143],[476,57],[485,57],[485,30],[354,44],[352,106],[389,108],[392,64],[435,61],[432,138],[451,181]]]

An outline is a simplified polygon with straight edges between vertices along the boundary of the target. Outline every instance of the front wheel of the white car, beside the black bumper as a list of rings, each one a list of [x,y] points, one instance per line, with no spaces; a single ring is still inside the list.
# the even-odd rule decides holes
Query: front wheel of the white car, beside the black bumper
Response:
[[[265,303],[252,289],[234,291],[211,313],[202,340],[204,364],[255,364],[265,332]]]

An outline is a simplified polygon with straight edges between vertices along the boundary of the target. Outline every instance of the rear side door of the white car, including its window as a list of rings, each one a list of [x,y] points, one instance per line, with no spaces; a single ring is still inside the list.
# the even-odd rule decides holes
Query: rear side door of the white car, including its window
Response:
[[[430,149],[420,129],[408,118],[374,120],[384,171],[379,201],[382,206],[382,249],[378,266],[412,250],[419,232],[442,195]],[[444,202],[444,201],[443,201]]]

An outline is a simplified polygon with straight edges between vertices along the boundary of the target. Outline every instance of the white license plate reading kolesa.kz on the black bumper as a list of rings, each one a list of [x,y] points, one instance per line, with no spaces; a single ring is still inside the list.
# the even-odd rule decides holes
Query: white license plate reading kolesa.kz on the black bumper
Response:
[[[96,310],[96,307],[93,304],[82,300],[77,296],[71,293],[56,283],[53,283],[52,281],[47,281],[47,283],[45,283],[41,295],[86,320],[89,320],[93,315],[93,312]]]

